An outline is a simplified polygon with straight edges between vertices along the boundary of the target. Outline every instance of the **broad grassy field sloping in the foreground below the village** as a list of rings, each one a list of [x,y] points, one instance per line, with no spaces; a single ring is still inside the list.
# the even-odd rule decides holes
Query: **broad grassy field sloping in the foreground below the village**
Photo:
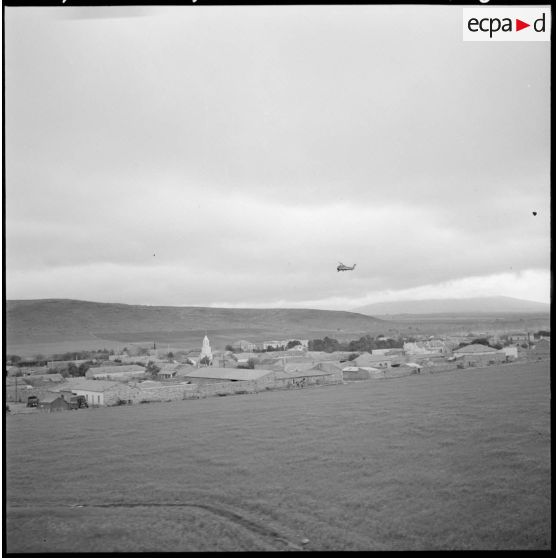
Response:
[[[9,552],[550,549],[549,362],[6,418]]]

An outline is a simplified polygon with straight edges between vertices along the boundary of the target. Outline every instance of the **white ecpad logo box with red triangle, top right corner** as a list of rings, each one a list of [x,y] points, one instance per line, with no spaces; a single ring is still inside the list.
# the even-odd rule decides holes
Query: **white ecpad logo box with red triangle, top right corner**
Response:
[[[464,41],[550,41],[550,8],[463,8]]]

